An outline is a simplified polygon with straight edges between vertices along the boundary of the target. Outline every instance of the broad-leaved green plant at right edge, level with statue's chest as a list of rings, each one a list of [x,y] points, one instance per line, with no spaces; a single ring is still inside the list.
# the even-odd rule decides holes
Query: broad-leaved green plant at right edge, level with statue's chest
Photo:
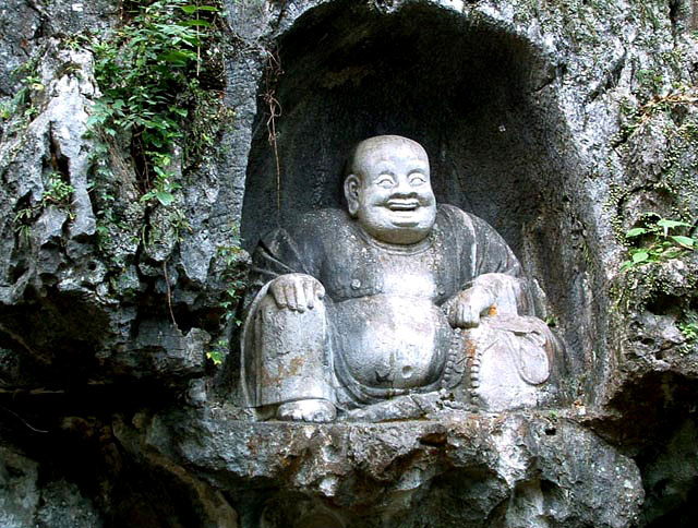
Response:
[[[650,262],[663,262],[676,259],[687,251],[698,248],[698,239],[678,235],[681,228],[689,228],[690,224],[681,220],[662,218],[655,213],[647,216],[659,218],[648,223],[645,227],[635,227],[625,233],[630,241],[638,241],[639,247],[630,248],[629,260],[625,261],[621,271],[629,269]]]

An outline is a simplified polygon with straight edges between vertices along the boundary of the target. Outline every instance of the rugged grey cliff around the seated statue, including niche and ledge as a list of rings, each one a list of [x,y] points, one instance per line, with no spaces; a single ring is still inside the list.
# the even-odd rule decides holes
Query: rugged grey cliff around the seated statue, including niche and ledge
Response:
[[[201,5],[0,8],[0,525],[694,526],[690,2]],[[381,133],[540,287],[557,408],[237,406],[241,244]]]

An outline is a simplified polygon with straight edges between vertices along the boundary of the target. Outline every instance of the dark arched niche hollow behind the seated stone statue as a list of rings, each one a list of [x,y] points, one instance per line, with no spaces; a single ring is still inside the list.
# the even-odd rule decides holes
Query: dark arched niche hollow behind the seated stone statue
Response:
[[[552,87],[559,72],[543,55],[504,25],[423,2],[308,11],[279,38],[260,85],[248,249],[293,215],[345,207],[342,169],[357,142],[411,137],[430,155],[437,201],[489,221],[540,283],[550,303],[541,296],[539,311],[561,319],[575,345],[568,369],[579,372],[589,345],[573,313],[587,307],[571,268],[583,259],[568,242],[576,214],[565,209],[579,177]],[[270,98],[280,109],[273,122]]]

